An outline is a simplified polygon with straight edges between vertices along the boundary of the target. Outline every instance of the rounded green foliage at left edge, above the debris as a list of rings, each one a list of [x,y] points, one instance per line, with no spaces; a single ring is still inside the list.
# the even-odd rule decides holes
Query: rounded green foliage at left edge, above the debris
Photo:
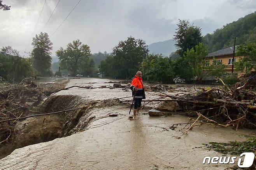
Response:
[[[11,46],[2,47],[0,51],[0,77],[7,82],[20,82],[32,75],[28,59],[19,57],[19,52]]]

